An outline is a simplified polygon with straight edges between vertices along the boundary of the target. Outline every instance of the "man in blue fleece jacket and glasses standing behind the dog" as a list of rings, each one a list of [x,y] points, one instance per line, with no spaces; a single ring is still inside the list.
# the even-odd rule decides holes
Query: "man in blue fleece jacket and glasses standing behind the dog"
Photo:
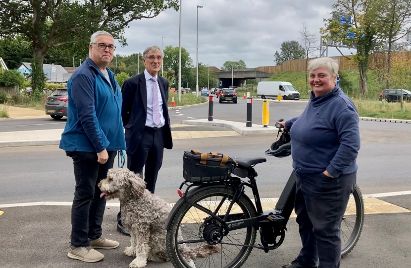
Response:
[[[95,248],[119,245],[102,237],[105,199],[97,186],[113,167],[117,151],[126,149],[122,94],[107,68],[114,50],[111,34],[98,31],[91,36],[90,57],[68,81],[68,117],[60,141],[60,148],[73,159],[76,180],[67,256],[88,263],[104,258]]]

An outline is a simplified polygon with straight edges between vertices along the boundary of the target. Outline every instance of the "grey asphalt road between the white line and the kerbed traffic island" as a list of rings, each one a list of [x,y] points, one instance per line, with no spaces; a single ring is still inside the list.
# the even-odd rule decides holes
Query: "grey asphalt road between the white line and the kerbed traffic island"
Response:
[[[407,164],[410,133],[361,128],[358,184],[363,194],[411,190]],[[174,140],[173,149],[164,151],[156,194],[167,202],[178,199],[176,190],[183,181],[185,150],[217,151],[231,157],[265,157],[264,151],[274,139],[274,134],[265,134]],[[1,148],[0,170],[0,204],[73,199],[72,160],[58,146]],[[292,171],[292,159],[267,157],[267,162],[258,164],[256,170],[260,196],[279,197]]]

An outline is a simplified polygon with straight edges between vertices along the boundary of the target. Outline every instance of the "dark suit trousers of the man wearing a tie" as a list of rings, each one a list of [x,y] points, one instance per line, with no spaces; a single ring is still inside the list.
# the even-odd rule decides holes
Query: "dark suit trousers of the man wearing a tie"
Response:
[[[158,171],[161,168],[164,154],[164,137],[162,129],[153,132],[145,128],[140,143],[133,154],[127,153],[127,168],[142,176],[144,169],[144,181],[146,189],[154,194]],[[117,223],[121,224],[121,211],[117,214]]]

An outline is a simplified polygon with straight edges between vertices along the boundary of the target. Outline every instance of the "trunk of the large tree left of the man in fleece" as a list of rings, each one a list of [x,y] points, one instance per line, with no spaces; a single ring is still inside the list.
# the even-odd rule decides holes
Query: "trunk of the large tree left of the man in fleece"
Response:
[[[46,87],[46,75],[43,70],[44,54],[41,48],[34,48],[33,62],[31,63],[31,87],[36,99],[41,98],[41,93]]]

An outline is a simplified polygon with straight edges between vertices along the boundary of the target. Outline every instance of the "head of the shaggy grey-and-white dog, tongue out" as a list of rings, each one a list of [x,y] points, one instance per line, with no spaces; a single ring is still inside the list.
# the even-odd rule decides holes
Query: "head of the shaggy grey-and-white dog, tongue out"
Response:
[[[102,191],[101,198],[129,200],[138,199],[143,195],[146,182],[128,169],[109,169],[107,178],[102,180],[98,187]]]

